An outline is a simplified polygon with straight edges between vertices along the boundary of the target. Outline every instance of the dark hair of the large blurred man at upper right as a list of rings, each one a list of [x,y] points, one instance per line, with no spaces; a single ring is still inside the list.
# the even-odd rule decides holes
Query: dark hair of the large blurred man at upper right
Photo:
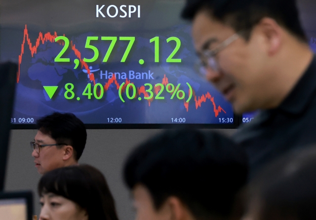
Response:
[[[270,17],[299,40],[307,42],[296,0],[187,0],[181,15],[193,20],[203,9],[211,17],[230,25],[237,33],[242,32],[241,36],[246,40],[262,18]]]

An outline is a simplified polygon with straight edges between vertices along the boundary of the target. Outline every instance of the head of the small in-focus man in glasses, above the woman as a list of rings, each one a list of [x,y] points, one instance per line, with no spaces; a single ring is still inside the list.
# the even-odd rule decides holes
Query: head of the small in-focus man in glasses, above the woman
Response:
[[[40,174],[78,163],[87,138],[78,117],[73,113],[54,112],[37,120],[37,127],[31,147]]]

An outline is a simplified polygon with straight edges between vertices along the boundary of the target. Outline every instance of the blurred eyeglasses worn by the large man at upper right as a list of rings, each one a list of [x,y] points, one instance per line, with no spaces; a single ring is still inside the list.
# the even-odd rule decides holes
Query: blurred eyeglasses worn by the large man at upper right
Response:
[[[239,38],[239,34],[234,34],[231,37],[228,37],[222,43],[217,45],[214,49],[211,50],[204,50],[198,64],[198,73],[205,76],[206,75],[206,68],[211,68],[213,71],[218,71],[218,62],[216,60],[216,55],[218,52],[223,50],[229,44],[234,42]]]

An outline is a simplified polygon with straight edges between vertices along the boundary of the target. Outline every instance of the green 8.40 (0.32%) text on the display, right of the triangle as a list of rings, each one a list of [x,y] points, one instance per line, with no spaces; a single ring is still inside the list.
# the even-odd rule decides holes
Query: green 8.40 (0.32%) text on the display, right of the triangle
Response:
[[[190,91],[189,97],[186,99],[186,102],[188,103],[192,98],[193,90],[192,90],[191,85],[188,82],[186,84],[189,86],[189,91]],[[177,97],[179,100],[182,100],[182,99],[185,99],[186,94],[183,90],[179,89],[180,86],[181,86],[181,83],[179,83],[177,86],[174,86],[172,83],[168,83],[166,86],[164,86],[164,84],[162,83],[157,83],[155,85],[152,85],[151,83],[145,83],[144,86],[141,86],[141,88],[143,87],[143,94],[144,94],[145,100],[164,99],[164,96],[162,96],[162,92],[164,91],[164,89],[168,93],[171,94],[170,99]],[[83,90],[82,95],[87,96],[88,99],[91,99],[92,95],[94,96],[95,99],[102,99],[104,95],[104,87],[102,86],[102,84],[96,83],[93,87],[93,91],[91,87],[92,87],[91,83],[88,83],[85,89]],[[65,85],[66,91],[64,93],[64,97],[66,99],[75,98],[75,92],[73,91],[74,88],[75,86],[73,83],[67,83]],[[119,86],[119,89],[118,89],[118,96],[123,103],[125,102],[125,100],[122,97],[123,90],[125,90],[126,97],[130,100],[136,98],[137,94],[140,94],[140,93],[137,93],[136,86],[133,83],[128,83],[126,85],[125,82],[123,82]],[[156,95],[154,93],[156,93]],[[141,99],[142,98],[138,96],[138,100],[140,101]],[[79,101],[80,97],[77,97],[77,100]]]

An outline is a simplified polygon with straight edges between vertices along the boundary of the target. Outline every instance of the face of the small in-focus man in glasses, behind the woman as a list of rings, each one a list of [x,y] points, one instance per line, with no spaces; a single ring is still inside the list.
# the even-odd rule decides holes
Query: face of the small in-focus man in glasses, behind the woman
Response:
[[[35,138],[35,143],[39,145],[57,144],[49,135],[45,135],[38,131]],[[40,174],[63,167],[64,146],[46,146],[40,147],[40,153],[33,150],[32,156],[35,157],[35,167],[38,168]]]

